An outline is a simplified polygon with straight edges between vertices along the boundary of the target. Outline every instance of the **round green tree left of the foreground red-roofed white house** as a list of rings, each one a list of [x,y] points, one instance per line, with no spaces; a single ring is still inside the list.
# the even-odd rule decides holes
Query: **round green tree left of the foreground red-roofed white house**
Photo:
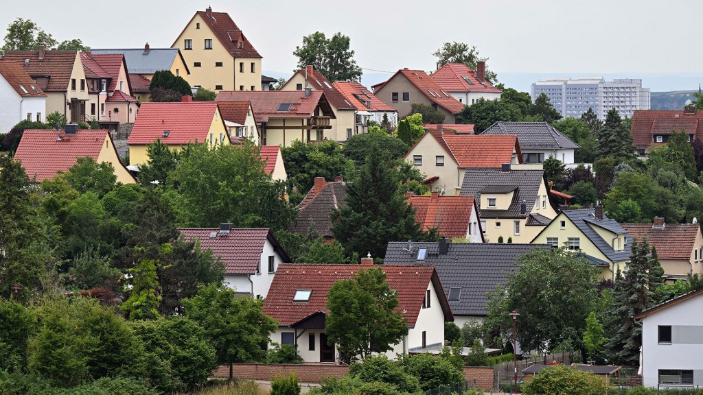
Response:
[[[269,342],[278,323],[264,315],[263,303],[262,299],[238,297],[235,290],[215,284],[200,287],[194,297],[183,299],[186,317],[205,330],[217,362],[229,364],[230,378],[232,363],[266,358],[261,345]]]

